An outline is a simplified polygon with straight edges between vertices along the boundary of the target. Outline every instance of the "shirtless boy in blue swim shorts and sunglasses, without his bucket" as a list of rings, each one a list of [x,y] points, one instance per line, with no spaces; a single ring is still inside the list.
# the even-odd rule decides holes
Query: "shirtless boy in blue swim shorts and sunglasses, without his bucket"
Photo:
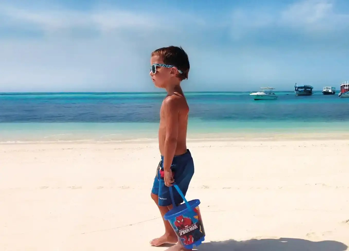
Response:
[[[150,76],[156,87],[164,88],[167,95],[160,109],[159,150],[161,161],[158,164],[151,198],[158,206],[162,218],[172,209],[169,187],[173,182],[185,195],[194,174],[194,162],[186,146],[189,107],[180,87],[180,82],[188,79],[189,60],[181,47],[169,46],[151,53]],[[174,203],[183,199],[176,189],[172,189]],[[186,250],[178,240],[170,223],[164,220],[165,234],[150,241],[151,245],[175,244],[168,250]]]

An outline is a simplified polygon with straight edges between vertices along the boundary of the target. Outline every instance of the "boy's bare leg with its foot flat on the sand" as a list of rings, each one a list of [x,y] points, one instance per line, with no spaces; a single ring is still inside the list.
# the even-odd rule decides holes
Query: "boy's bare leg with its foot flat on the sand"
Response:
[[[162,220],[164,221],[164,225],[165,225],[165,234],[160,236],[159,238],[155,238],[151,240],[150,244],[154,246],[160,246],[165,243],[176,244],[178,241],[177,235],[174,232],[170,222],[164,219],[164,215],[172,209],[172,205],[159,206],[159,203],[158,203],[159,197],[154,193],[151,193],[151,198],[155,201],[157,207],[159,208]]]

